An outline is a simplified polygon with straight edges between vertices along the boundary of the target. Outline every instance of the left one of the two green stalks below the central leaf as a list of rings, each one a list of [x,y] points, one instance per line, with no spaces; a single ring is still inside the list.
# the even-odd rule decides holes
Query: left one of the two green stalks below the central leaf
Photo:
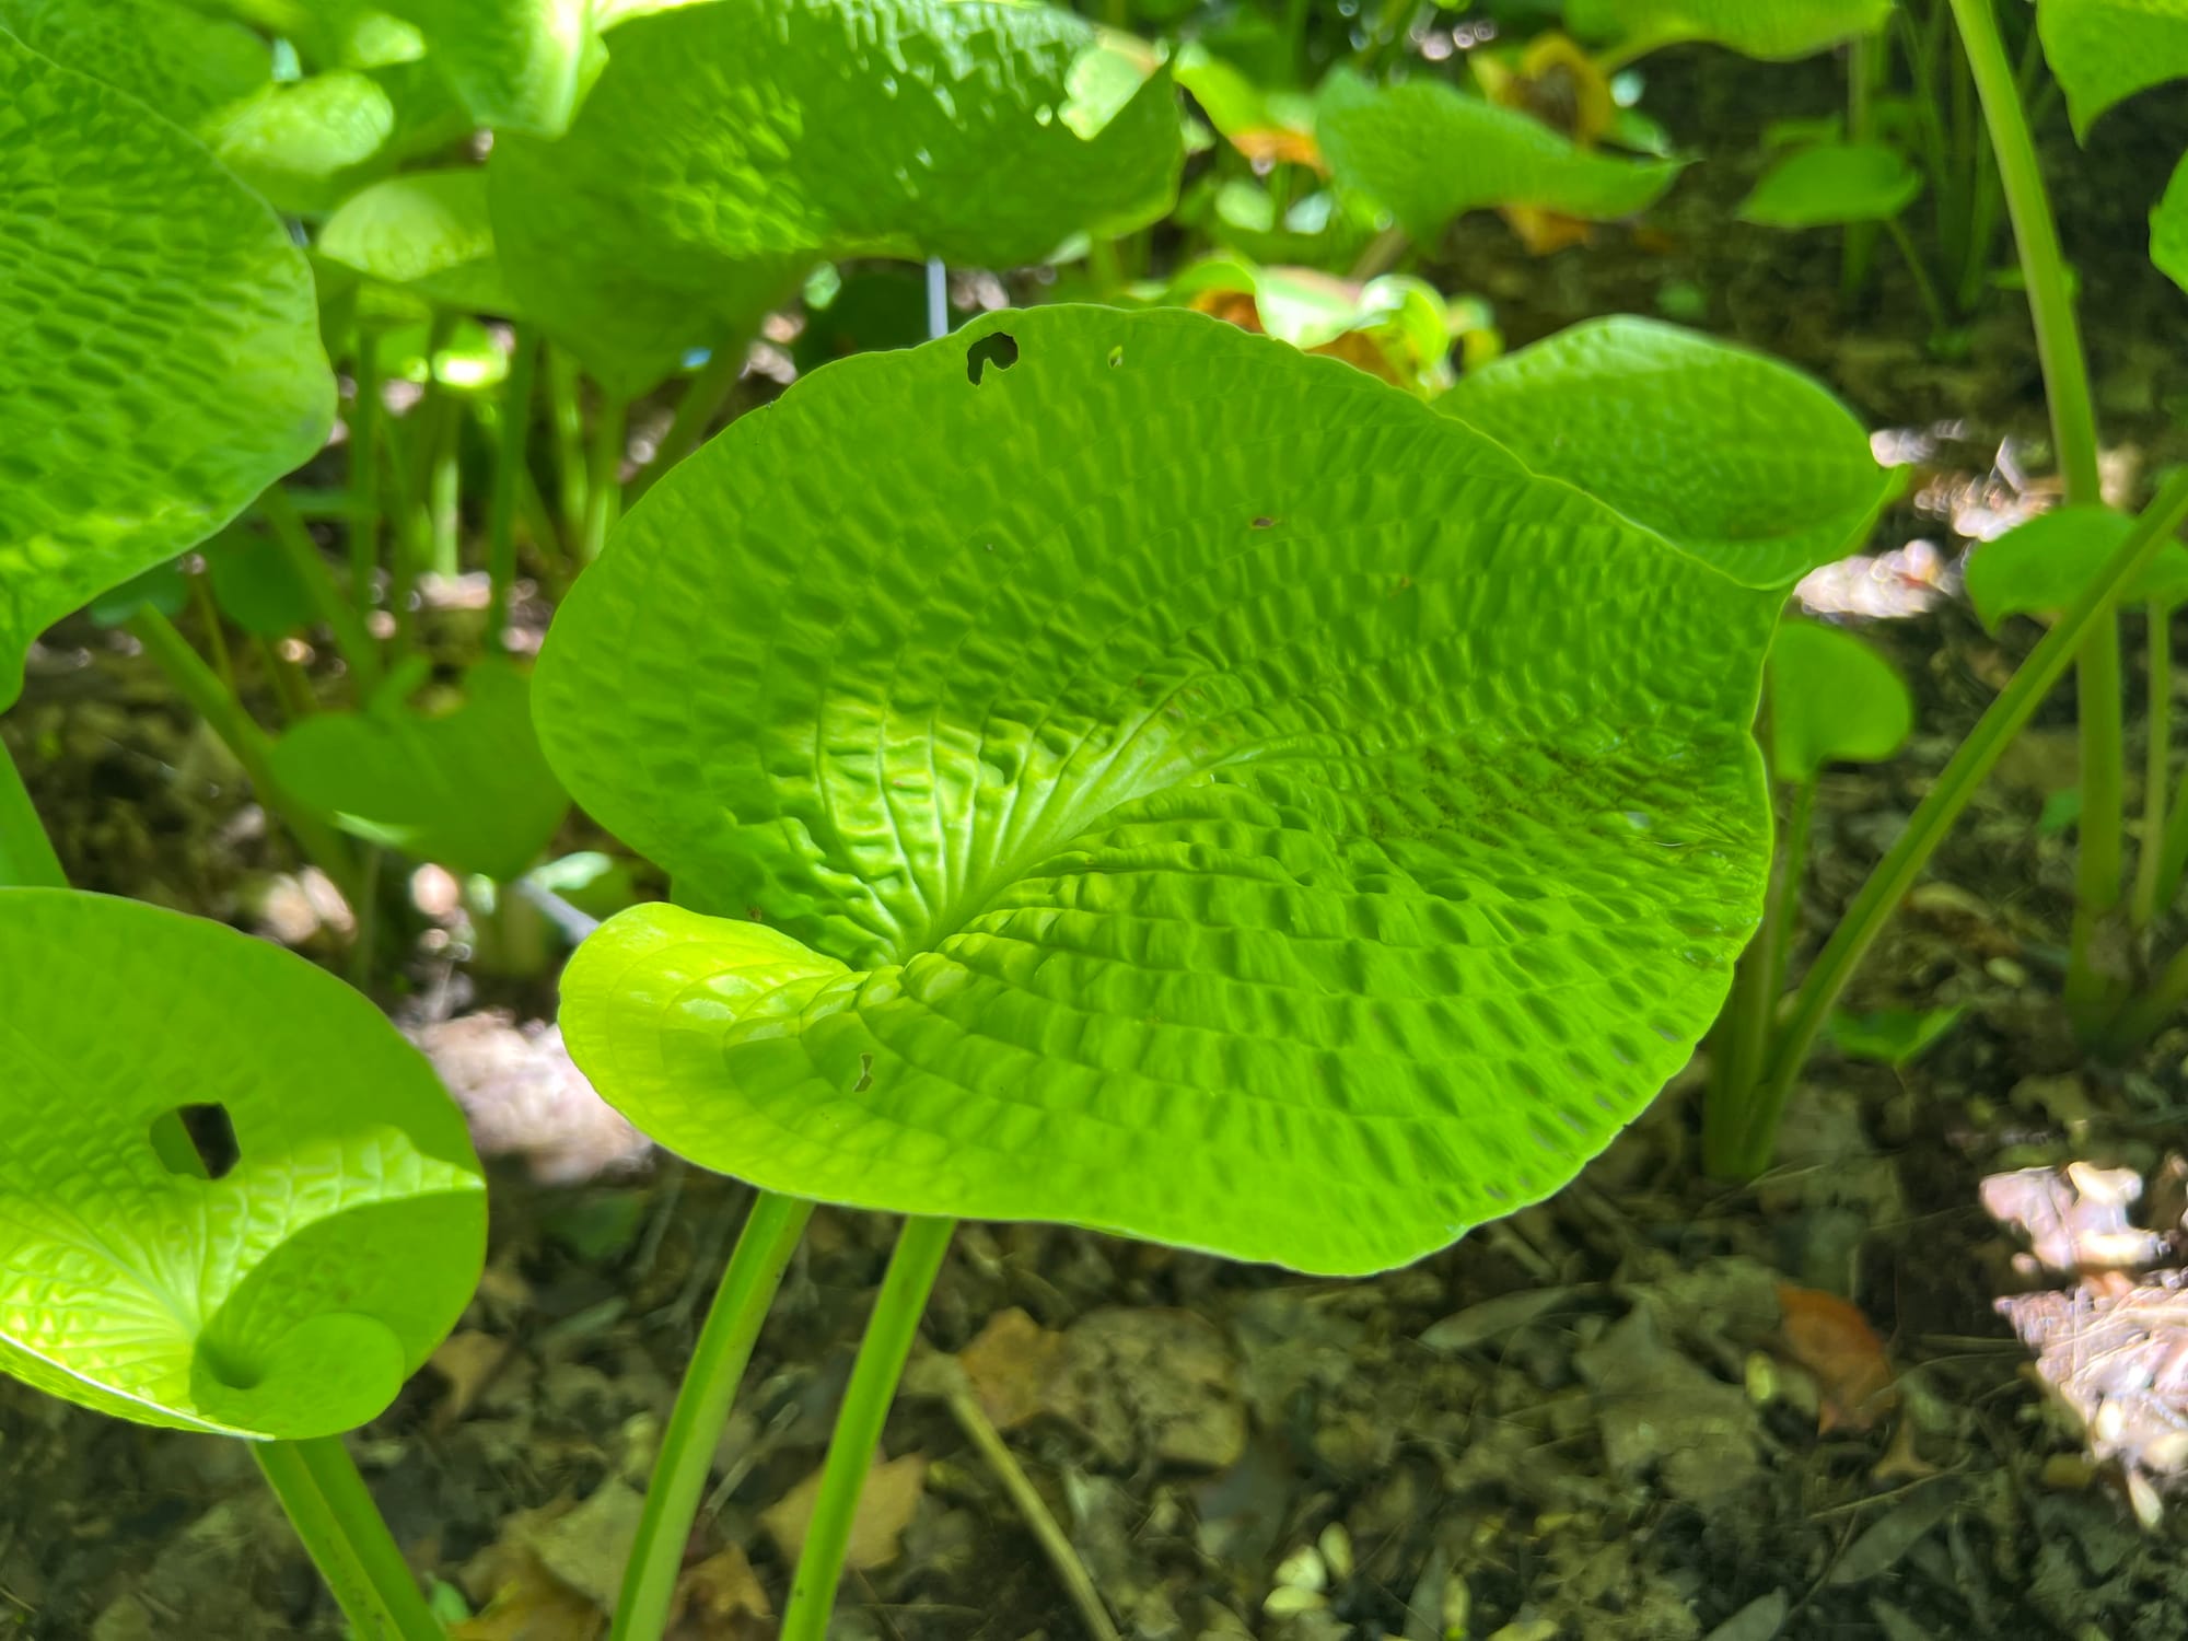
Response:
[[[698,1348],[685,1368],[683,1387],[676,1392],[676,1411],[670,1413],[670,1427],[661,1438],[661,1457],[645,1490],[639,1536],[630,1545],[610,1641],[659,1641],[667,1630],[676,1575],[683,1571],[691,1521],[707,1492],[707,1473],[722,1440],[722,1424],[729,1420],[737,1383],[753,1359],[753,1341],[759,1339],[768,1306],[775,1304],[812,1212],[810,1201],[764,1190],[744,1221],[722,1287],[700,1328]]]

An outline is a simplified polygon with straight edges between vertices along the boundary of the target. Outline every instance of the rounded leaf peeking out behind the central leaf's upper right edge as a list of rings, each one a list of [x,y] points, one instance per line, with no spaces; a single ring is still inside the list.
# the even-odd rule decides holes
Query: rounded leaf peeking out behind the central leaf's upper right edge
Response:
[[[1895,488],[1820,383],[1656,319],[1575,324],[1438,409],[1748,586],[1851,554]]]

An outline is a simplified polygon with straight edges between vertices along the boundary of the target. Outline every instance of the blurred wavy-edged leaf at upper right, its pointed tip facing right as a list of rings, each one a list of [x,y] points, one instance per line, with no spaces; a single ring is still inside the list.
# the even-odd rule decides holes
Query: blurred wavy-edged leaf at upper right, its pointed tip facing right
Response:
[[[1534,206],[1608,221],[1656,203],[1680,160],[1619,160],[1582,149],[1518,109],[1416,79],[1370,85],[1348,68],[1317,98],[1315,136],[1330,173],[1381,199],[1418,241],[1453,217]]]

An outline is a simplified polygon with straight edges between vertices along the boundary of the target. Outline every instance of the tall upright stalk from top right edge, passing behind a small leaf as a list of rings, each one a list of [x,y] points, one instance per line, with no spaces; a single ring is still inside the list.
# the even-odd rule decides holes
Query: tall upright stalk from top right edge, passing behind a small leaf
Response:
[[[2044,363],[2052,444],[2059,451],[2059,473],[2065,479],[2063,501],[2070,508],[2100,505],[2105,497],[2098,484],[2090,361],[2081,348],[2065,256],[2059,252],[2059,228],[2052,221],[2050,197],[2044,193],[2044,171],[2037,164],[2035,140],[2028,136],[2013,63],[2006,61],[1991,0],[1950,2],[1960,26],[1960,44],[1967,48],[1969,72],[1976,77],[1976,92],[1982,96],[1985,118],[1991,125],[1998,179],[2004,186],[2013,238],[2022,252],[2022,282],[2028,287],[2028,315],[2035,322],[2037,357]],[[2120,621],[2109,610],[2103,621],[2090,628],[2081,654],[2076,709],[2081,715],[2081,827],[2065,1000],[2068,1009],[2087,1022],[2109,989],[2107,978],[2094,967],[2094,950],[2098,926],[2120,904],[2120,858],[2127,831]]]

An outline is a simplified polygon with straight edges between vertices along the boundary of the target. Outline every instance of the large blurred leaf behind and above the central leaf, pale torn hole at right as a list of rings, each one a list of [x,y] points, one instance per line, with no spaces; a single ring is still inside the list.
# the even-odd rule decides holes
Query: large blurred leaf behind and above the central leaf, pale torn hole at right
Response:
[[[490,177],[512,293],[624,387],[823,258],[1028,263],[1153,221],[1184,162],[1168,72],[1039,4],[715,0],[608,48],[569,136]]]

